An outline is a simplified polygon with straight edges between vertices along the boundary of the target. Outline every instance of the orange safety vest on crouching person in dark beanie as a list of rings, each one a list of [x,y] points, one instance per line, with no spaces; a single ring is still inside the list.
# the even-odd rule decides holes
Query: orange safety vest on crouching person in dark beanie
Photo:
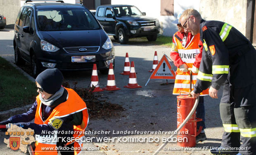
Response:
[[[68,115],[72,115],[73,113],[77,113],[82,111],[83,113],[83,121],[82,124],[78,126],[73,126],[74,130],[74,138],[76,137],[80,138],[79,142],[72,141],[67,143],[71,144],[74,143],[74,148],[77,148],[74,150],[75,155],[78,155],[81,151],[81,148],[83,146],[82,143],[82,138],[84,137],[84,130],[87,127],[88,121],[89,121],[89,116],[88,116],[88,111],[85,102],[81,99],[81,97],[76,94],[76,92],[73,89],[65,88],[68,92],[68,99],[56,106],[53,110],[50,116],[45,120],[45,122],[42,119],[42,110],[41,110],[41,105],[42,102],[39,99],[39,95],[36,97],[36,102],[38,103],[37,109],[36,109],[36,116],[35,116],[35,123],[36,124],[48,124],[50,120],[55,119],[55,118],[62,118],[66,117]],[[80,134],[80,131],[82,134]],[[40,135],[35,135],[36,136],[36,149],[35,149],[35,155],[57,155],[57,147],[56,147],[56,138],[57,134],[51,135],[51,139],[53,140],[55,138],[55,141],[42,141],[43,136]],[[49,139],[49,136],[47,137]],[[78,138],[77,138],[78,139]],[[78,140],[77,140],[78,141]],[[44,150],[42,148],[54,148],[53,150]]]

